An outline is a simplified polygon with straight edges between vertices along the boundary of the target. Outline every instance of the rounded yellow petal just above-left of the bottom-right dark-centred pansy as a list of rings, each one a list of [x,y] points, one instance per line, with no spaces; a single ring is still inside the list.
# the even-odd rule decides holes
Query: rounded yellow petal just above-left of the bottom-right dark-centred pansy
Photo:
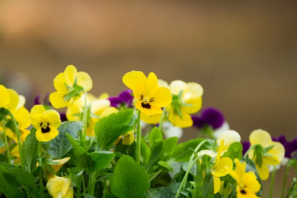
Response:
[[[233,161],[229,157],[221,158],[214,166],[211,167],[211,174],[216,177],[228,175],[226,168],[233,168]]]

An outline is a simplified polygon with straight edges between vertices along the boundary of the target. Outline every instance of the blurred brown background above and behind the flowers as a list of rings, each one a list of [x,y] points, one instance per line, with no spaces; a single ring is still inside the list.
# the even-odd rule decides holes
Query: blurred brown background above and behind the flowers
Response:
[[[0,0],[0,83],[27,97],[53,92],[73,64],[92,93],[115,96],[122,76],[150,71],[195,81],[203,106],[222,110],[247,140],[254,129],[297,137],[297,12],[294,3]],[[186,130],[183,140],[195,138]],[[291,183],[296,171],[290,171]],[[277,172],[280,197],[284,170]],[[264,198],[268,182],[264,182]],[[265,195],[266,194],[266,195]]]

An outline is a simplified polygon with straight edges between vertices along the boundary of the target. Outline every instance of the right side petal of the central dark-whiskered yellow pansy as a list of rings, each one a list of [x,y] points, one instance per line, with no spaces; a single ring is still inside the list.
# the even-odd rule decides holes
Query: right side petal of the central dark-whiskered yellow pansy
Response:
[[[148,95],[148,101],[157,107],[164,107],[172,102],[172,95],[167,88],[158,87],[153,94]]]

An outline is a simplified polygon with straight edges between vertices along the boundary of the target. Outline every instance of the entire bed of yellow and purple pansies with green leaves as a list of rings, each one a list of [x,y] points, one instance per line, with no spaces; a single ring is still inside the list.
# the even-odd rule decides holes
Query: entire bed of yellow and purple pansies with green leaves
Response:
[[[271,175],[271,197],[277,167],[297,169],[297,139],[258,129],[241,143],[222,112],[199,111],[198,83],[141,71],[122,80],[129,90],[95,96],[89,74],[69,65],[53,80],[56,92],[38,96],[30,112],[23,96],[0,85],[0,196],[259,198]],[[192,126],[198,138],[178,144]]]

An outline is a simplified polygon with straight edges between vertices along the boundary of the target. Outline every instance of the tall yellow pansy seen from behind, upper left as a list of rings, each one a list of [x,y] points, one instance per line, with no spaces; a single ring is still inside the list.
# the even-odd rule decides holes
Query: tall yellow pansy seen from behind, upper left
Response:
[[[55,108],[63,108],[73,102],[73,99],[79,97],[74,96],[73,98],[65,101],[64,97],[74,90],[77,86],[82,86],[87,92],[92,89],[93,81],[89,74],[86,72],[77,72],[76,67],[68,65],[63,73],[59,73],[53,79],[53,85],[56,92],[49,95],[49,101]]]

